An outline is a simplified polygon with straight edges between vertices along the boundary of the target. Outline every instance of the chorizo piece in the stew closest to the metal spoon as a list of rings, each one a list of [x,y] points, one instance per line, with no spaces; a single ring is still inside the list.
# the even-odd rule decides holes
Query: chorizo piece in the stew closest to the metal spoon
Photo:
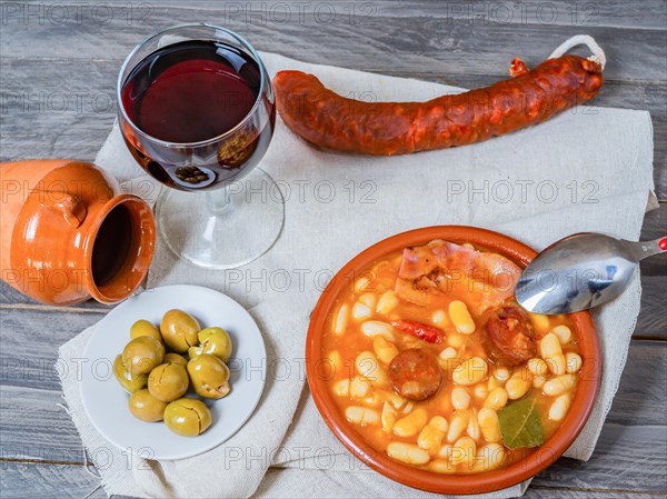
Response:
[[[514,305],[498,307],[489,313],[484,342],[487,353],[506,366],[517,366],[537,353],[530,319]]]

